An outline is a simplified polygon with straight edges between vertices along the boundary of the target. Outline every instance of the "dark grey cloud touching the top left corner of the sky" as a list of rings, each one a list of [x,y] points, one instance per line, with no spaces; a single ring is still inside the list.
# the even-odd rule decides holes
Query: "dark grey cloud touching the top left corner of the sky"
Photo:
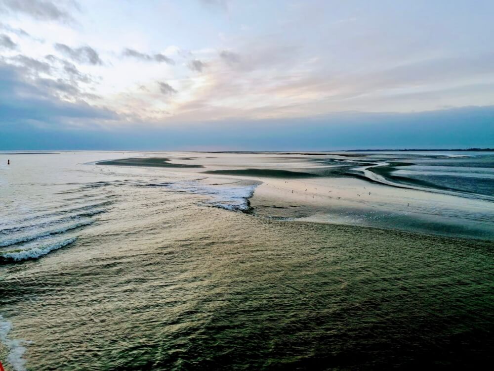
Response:
[[[33,18],[45,21],[73,21],[68,11],[60,6],[61,3],[75,5],[73,1],[0,0],[0,11],[24,13]]]

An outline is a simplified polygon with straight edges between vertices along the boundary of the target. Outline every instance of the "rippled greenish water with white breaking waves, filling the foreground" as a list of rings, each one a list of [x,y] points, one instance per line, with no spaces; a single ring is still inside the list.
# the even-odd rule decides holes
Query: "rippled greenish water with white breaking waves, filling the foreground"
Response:
[[[119,156],[0,156],[7,371],[493,361],[492,242],[261,218],[256,183],[87,164]]]

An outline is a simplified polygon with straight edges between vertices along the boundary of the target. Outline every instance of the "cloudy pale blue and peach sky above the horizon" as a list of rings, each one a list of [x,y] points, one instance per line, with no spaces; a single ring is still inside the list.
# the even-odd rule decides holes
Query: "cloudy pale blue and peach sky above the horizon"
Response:
[[[0,0],[1,149],[494,147],[492,0]]]

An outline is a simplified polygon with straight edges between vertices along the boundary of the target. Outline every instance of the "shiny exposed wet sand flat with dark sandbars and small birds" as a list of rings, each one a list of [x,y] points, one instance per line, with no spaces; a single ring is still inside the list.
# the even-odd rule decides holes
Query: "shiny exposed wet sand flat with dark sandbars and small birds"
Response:
[[[465,160],[450,158],[450,154],[318,152],[304,156],[289,152],[215,152],[210,156],[200,152],[164,152],[161,155],[98,164],[163,168],[163,171],[198,177],[210,185],[254,181],[257,185],[248,210],[263,218],[494,239],[493,203],[486,200],[487,196],[450,193],[449,189],[434,187],[433,183],[417,189],[395,182],[393,167],[397,164],[464,163]],[[482,161],[490,160],[483,157]],[[369,167],[372,169],[367,170]]]

